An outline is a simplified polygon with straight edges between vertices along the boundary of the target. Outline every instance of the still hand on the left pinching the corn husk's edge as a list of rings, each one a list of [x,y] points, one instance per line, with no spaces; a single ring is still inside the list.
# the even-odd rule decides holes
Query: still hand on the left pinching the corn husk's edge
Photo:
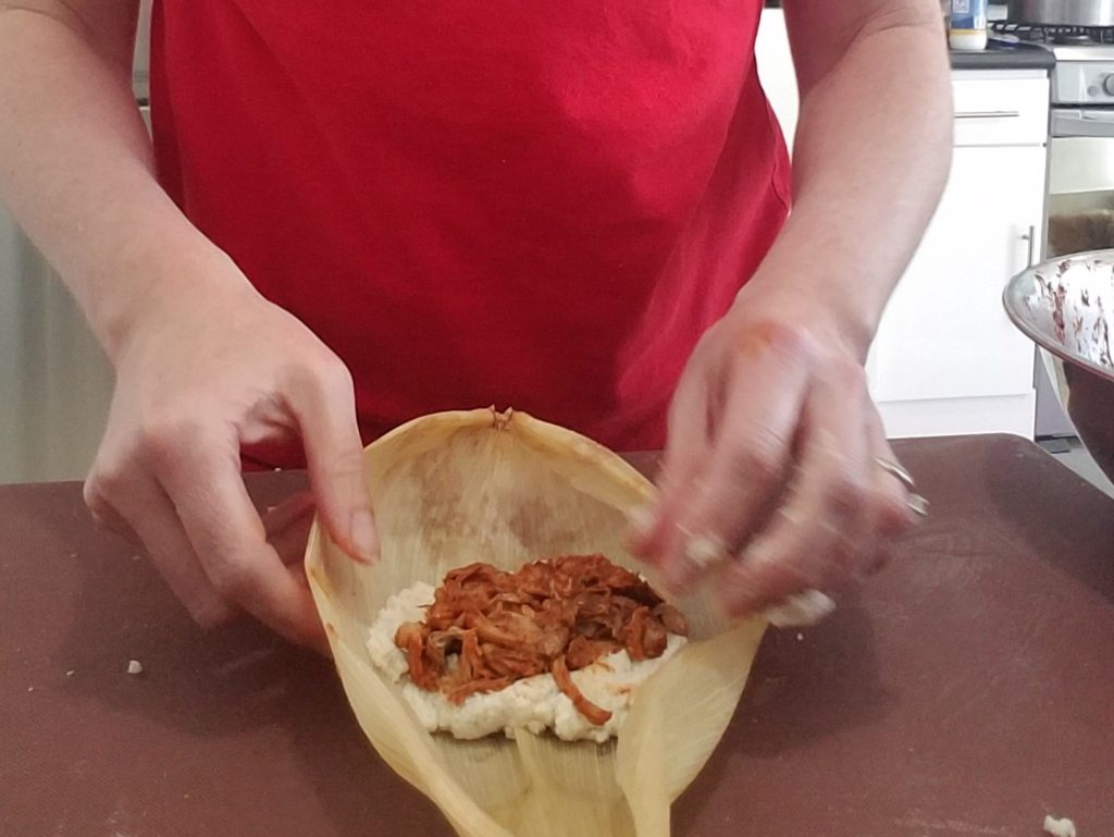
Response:
[[[378,549],[352,379],[231,262],[221,269],[206,289],[154,300],[129,325],[86,504],[146,547],[199,624],[246,611],[321,649],[296,543],[313,503],[353,557]],[[312,500],[295,497],[264,522],[244,488],[241,446],[297,438]]]

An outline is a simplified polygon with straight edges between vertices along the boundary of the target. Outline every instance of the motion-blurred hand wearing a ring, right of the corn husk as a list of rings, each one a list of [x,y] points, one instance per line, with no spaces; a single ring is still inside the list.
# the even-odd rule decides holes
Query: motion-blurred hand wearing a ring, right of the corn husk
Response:
[[[694,351],[658,502],[633,520],[668,586],[714,582],[740,616],[879,567],[925,505],[867,391],[864,348],[817,303],[750,291]]]

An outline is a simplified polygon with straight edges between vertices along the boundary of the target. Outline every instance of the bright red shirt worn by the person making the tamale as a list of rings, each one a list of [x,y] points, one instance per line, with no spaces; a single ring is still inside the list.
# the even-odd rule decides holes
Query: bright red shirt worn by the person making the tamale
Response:
[[[761,6],[159,0],[159,176],[349,364],[368,439],[495,403],[661,447],[786,213]]]

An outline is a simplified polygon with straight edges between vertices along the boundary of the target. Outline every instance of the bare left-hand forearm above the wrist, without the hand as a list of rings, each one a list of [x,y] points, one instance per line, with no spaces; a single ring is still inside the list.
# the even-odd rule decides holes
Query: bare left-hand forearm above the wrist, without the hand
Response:
[[[0,196],[113,356],[138,311],[223,256],[155,179],[130,38],[0,3]]]

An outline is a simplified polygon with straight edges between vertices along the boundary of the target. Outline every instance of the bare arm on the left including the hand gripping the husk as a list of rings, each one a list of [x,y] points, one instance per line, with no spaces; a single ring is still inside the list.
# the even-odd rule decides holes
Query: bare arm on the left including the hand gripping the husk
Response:
[[[262,520],[245,442],[300,438],[316,508],[370,557],[352,380],[257,294],[159,187],[131,95],[136,0],[0,0],[0,196],[61,274],[111,359],[116,390],[85,486],[94,515],[140,541],[203,624],[243,609],[323,642],[300,571]]]

